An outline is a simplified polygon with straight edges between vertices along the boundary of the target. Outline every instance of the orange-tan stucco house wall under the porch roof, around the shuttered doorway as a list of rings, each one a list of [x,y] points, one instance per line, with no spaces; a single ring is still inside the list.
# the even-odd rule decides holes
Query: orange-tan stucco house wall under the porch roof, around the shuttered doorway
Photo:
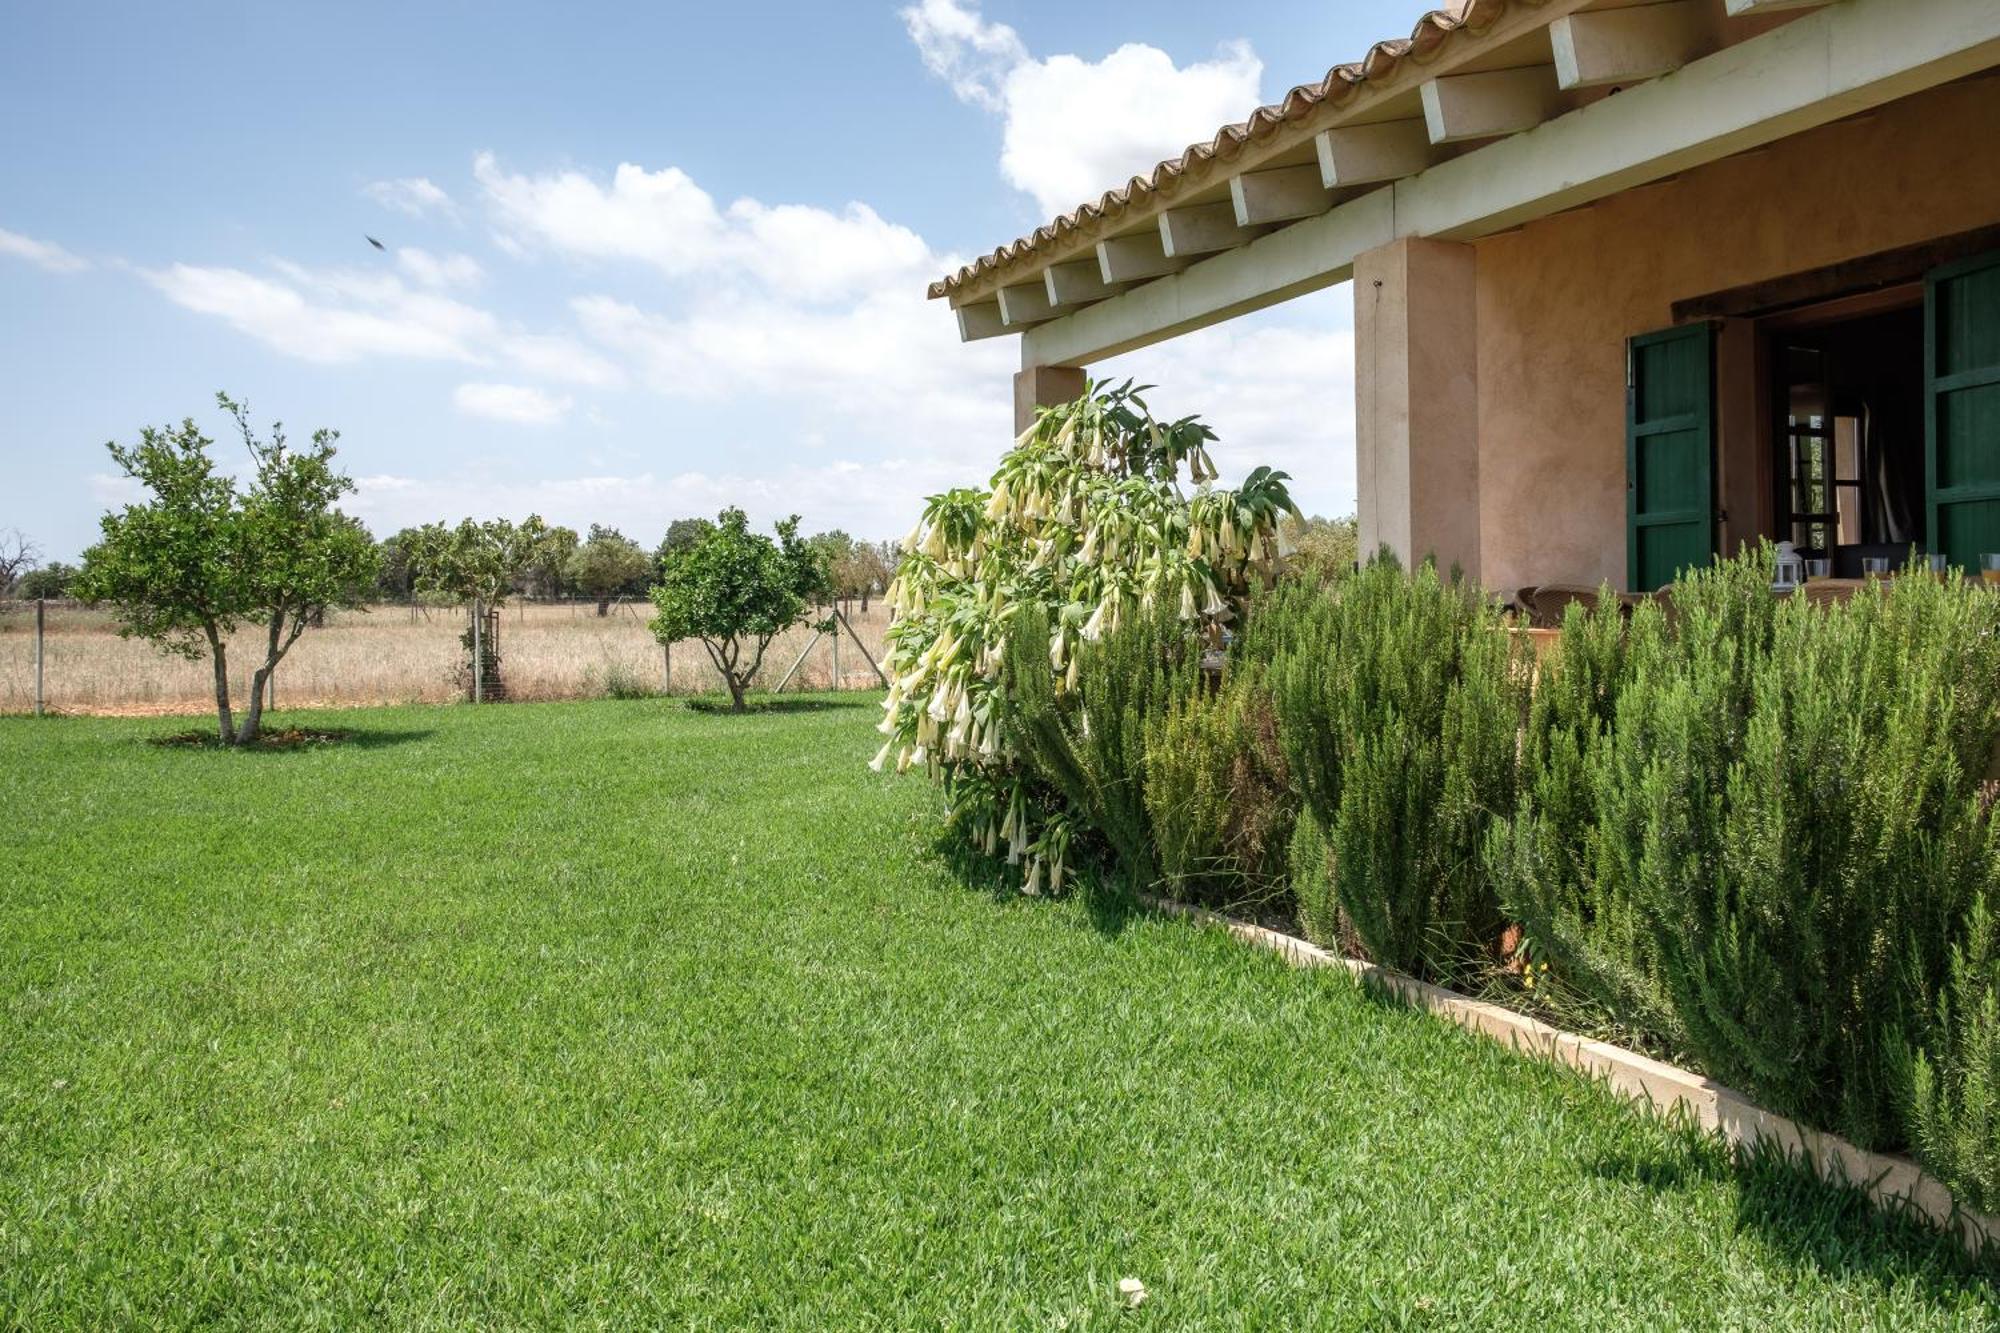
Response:
[[[1626,584],[1626,338],[1672,324],[1676,300],[1994,222],[1986,76],[1478,240],[1482,582]],[[1752,422],[1724,410],[1718,438],[1738,532]]]

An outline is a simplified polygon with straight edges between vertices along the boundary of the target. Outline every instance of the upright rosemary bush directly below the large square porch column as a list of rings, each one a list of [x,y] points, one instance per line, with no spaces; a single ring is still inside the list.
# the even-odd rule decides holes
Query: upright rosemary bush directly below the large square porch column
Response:
[[[1480,855],[1512,807],[1528,671],[1478,588],[1382,556],[1352,578],[1264,598],[1278,737],[1324,829],[1340,923],[1370,957],[1422,977],[1474,977],[1504,921]]]

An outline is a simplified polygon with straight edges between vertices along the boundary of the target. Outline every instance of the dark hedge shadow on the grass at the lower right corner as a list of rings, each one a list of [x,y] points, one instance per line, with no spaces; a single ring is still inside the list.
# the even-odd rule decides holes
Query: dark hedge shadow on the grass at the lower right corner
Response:
[[[1590,1173],[1654,1193],[1730,1181],[1738,1231],[1760,1237],[1794,1267],[1882,1291],[1920,1291],[1940,1307],[1974,1293],[2000,1317],[2000,1287],[1994,1285],[2000,1261],[1968,1255],[1942,1231],[1876,1207],[1860,1189],[1818,1179],[1774,1143],[1732,1155],[1682,1125],[1672,1147],[1608,1155]]]

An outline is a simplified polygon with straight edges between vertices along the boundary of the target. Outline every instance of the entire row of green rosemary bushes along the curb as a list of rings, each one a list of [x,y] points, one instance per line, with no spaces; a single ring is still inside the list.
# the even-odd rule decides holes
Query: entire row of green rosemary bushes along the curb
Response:
[[[1478,588],[1382,556],[1240,626],[1218,681],[1142,602],[1058,681],[1018,608],[1010,781],[1062,811],[1050,883],[1088,833],[1126,883],[1284,905],[2000,1205],[2000,596],[1910,568],[1776,598],[1750,552],[1572,608],[1536,664]]]

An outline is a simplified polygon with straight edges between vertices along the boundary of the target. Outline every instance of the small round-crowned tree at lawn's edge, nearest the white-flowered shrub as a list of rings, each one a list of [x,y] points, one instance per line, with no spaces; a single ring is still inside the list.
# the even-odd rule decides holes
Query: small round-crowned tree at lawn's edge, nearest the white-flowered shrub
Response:
[[[660,642],[700,638],[730,687],[730,707],[742,713],[770,640],[824,596],[826,566],[798,538],[796,514],[772,540],[752,532],[740,508],[726,508],[698,540],[666,550],[650,628]]]

